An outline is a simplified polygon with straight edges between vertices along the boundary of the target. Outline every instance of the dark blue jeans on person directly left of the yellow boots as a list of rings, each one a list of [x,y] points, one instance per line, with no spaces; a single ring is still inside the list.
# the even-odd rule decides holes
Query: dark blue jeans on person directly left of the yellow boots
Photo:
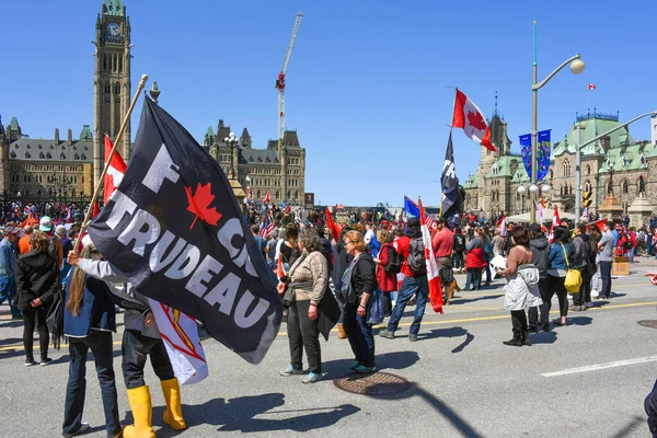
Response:
[[[116,382],[114,380],[112,333],[91,331],[87,337],[69,337],[69,381],[66,388],[62,435],[72,434],[82,426],[84,392],[87,390],[87,355],[89,350],[95,360],[101,396],[105,411],[105,430],[108,437],[120,433]]]

